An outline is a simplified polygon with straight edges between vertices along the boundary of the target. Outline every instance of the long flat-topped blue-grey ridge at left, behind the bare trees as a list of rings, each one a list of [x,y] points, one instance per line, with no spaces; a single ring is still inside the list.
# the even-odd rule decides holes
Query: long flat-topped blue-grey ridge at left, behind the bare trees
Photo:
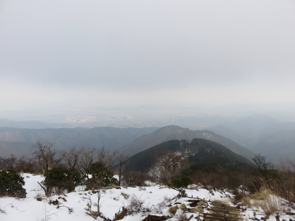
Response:
[[[59,150],[73,146],[87,148],[104,146],[108,150],[117,150],[156,129],[114,127],[24,129],[2,127],[0,128],[0,154],[2,157],[9,154],[16,156],[30,155],[30,147],[37,141],[56,142],[54,148]]]

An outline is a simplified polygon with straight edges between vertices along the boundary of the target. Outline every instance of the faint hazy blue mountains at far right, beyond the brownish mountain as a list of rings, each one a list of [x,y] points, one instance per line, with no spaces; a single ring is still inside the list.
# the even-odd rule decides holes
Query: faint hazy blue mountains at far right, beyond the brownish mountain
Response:
[[[252,115],[208,128],[217,134],[266,156],[268,160],[295,159],[295,123],[282,123],[264,115]]]

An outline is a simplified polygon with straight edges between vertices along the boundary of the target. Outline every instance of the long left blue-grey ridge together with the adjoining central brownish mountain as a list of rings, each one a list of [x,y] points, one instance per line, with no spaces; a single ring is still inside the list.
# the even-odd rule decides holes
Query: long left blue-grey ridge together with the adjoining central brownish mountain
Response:
[[[37,142],[55,142],[54,148],[64,150],[75,147],[104,146],[108,150],[118,150],[129,157],[148,149],[154,145],[172,139],[204,138],[215,141],[233,152],[248,159],[254,156],[254,152],[236,144],[232,140],[217,135],[211,131],[194,131],[178,126],[166,126],[162,128],[73,128],[73,129],[24,129],[24,128],[0,128],[1,155],[9,154],[30,155],[31,146]]]

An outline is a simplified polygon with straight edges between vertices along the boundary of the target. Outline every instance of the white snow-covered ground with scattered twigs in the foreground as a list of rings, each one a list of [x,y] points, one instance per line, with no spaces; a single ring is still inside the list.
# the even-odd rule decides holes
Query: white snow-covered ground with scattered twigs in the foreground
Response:
[[[55,195],[45,197],[44,192],[37,182],[41,182],[44,177],[40,175],[32,175],[24,173],[25,189],[27,190],[27,197],[25,199],[18,199],[13,197],[0,198],[0,221],[93,221],[93,218],[87,214],[88,204],[90,199],[92,202],[92,211],[97,210],[95,202],[97,201],[97,193],[84,191],[83,187],[76,188],[76,192],[66,193],[64,195]],[[165,186],[153,185],[148,187],[135,188],[121,188],[109,189],[102,191],[100,201],[100,211],[105,217],[111,220],[115,217],[118,211],[122,211],[122,206],[127,207],[132,198],[144,201],[144,206],[148,207],[152,212],[139,213],[135,215],[125,216],[122,221],[141,221],[147,217],[148,214],[167,216],[171,215],[168,212],[168,204],[181,205],[188,204],[188,200],[192,198],[173,199],[177,195],[177,191],[167,188]],[[205,189],[187,189],[186,193],[189,197],[199,197],[205,200],[223,200],[231,203],[231,194],[226,192],[209,192]],[[36,198],[42,197],[41,201]],[[57,205],[49,204],[50,201],[59,201],[59,208]],[[179,209],[180,210],[180,209]],[[159,212],[161,211],[161,212]],[[177,211],[178,212],[178,211]],[[245,220],[252,220],[253,210],[248,209],[244,212]],[[157,214],[155,214],[157,213]],[[187,216],[194,215],[191,221],[197,220],[198,213],[187,214]],[[257,213],[257,218],[260,219],[262,215]],[[289,220],[291,217],[281,216],[280,220]],[[97,218],[98,221],[102,220]],[[177,216],[169,219],[176,221]],[[270,217],[269,221],[275,221],[275,217]]]

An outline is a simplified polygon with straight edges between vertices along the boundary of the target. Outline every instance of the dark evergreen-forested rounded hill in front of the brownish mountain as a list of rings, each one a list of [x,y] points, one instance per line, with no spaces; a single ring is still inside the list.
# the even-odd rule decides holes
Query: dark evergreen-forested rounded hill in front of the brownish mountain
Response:
[[[187,159],[190,164],[198,164],[205,161],[216,163],[221,161],[221,159],[222,161],[231,162],[231,165],[250,163],[249,160],[234,153],[227,147],[207,139],[194,138],[191,142],[185,140],[168,140],[130,157],[125,166],[124,173],[131,170],[138,170],[146,173],[156,165],[160,156],[165,156],[168,153],[181,155],[181,157]]]

